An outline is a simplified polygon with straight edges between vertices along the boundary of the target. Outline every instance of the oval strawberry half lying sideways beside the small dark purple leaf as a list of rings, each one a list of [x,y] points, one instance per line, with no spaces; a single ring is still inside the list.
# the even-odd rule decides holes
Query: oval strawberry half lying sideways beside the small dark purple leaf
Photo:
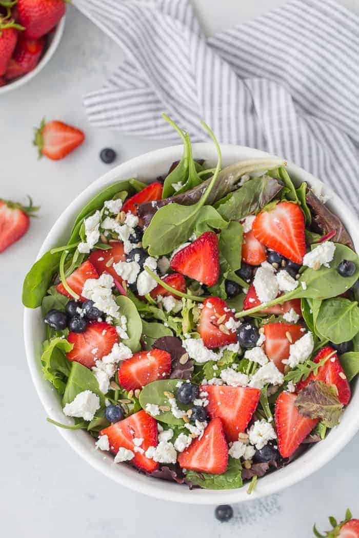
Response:
[[[119,383],[127,391],[144,387],[157,379],[166,379],[171,373],[171,355],[162,349],[135,353],[124,360],[118,371]]]

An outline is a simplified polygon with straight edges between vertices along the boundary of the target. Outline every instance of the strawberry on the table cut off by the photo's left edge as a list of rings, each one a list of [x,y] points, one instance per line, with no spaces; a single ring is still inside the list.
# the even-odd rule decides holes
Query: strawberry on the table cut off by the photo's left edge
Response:
[[[0,199],[0,252],[18,241],[27,232],[30,218],[39,208],[30,204],[25,207],[20,203]]]

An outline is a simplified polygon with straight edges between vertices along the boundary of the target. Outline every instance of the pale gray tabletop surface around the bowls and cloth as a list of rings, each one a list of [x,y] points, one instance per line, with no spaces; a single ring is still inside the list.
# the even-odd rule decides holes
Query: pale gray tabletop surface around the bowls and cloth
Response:
[[[208,34],[253,17],[282,0],[195,0]],[[358,0],[342,2],[359,13]],[[27,86],[0,101],[0,197],[40,204],[40,218],[0,259],[2,441],[0,448],[0,534],[6,538],[104,536],[182,538],[210,536],[312,536],[313,522],[341,518],[350,506],[359,517],[357,458],[359,436],[323,469],[270,498],[235,506],[229,523],[218,523],[212,507],[176,505],[122,489],[83,462],[45,420],[25,360],[20,303],[23,278],[50,226],[67,204],[108,167],[100,149],[118,151],[118,162],[154,148],[149,142],[92,129],[81,96],[98,88],[121,60],[119,49],[69,8],[60,47]],[[345,81],[343,81],[345,83]],[[86,141],[60,162],[36,160],[33,126],[41,118],[82,128]]]

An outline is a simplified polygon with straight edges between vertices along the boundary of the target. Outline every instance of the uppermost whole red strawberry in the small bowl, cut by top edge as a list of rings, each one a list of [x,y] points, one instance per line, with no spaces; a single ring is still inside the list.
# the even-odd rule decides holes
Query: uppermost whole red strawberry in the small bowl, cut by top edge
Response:
[[[40,39],[52,30],[65,13],[67,0],[18,0],[20,24],[29,39]]]

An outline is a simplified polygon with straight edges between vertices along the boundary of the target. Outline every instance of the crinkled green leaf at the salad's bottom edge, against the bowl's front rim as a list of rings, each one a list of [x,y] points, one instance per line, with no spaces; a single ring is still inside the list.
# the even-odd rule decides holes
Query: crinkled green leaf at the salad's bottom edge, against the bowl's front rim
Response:
[[[229,458],[227,470],[222,475],[210,475],[205,472],[188,471],[185,482],[206,490],[233,490],[243,486],[242,466],[239,459]]]

